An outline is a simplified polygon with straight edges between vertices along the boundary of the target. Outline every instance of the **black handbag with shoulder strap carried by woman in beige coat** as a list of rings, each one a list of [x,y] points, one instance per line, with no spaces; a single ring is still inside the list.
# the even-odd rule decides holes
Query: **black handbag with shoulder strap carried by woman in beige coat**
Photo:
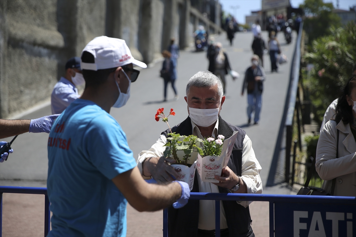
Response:
[[[336,158],[339,158],[339,132],[340,132],[339,129],[337,129]],[[312,179],[313,173],[315,171],[315,160],[316,160],[316,158],[313,159],[312,167],[310,167],[308,178],[307,178],[307,181],[305,181],[304,187],[302,187],[299,190],[297,195],[334,196],[336,178],[333,179],[333,183],[331,184],[330,193],[326,192],[326,190],[324,190],[322,188],[308,187],[310,179]]]

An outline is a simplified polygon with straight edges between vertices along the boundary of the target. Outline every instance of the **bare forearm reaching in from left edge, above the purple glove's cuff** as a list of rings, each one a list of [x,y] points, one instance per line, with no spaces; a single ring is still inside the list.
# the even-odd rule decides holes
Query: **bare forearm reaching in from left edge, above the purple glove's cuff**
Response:
[[[27,133],[30,130],[30,123],[31,119],[0,119],[0,139]]]

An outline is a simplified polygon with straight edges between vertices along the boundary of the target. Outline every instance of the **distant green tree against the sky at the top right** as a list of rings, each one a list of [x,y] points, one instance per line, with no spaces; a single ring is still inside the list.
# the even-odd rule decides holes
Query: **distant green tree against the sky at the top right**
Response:
[[[329,35],[330,27],[341,26],[341,19],[333,13],[333,3],[326,3],[323,0],[305,0],[301,7],[305,14],[304,30],[308,34],[309,44],[314,39]]]

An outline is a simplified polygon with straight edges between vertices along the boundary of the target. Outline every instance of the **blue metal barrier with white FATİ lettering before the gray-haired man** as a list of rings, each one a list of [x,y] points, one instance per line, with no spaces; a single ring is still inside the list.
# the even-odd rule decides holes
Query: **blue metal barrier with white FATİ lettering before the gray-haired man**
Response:
[[[338,230],[336,230],[340,232],[338,236],[356,236],[356,221],[353,221],[354,219],[356,219],[356,197],[235,193],[190,193],[190,199],[215,200],[216,237],[220,237],[220,200],[268,201],[270,237],[314,236],[314,232],[315,234],[320,233],[318,231],[324,231],[324,233],[326,233],[324,236],[337,236],[334,235],[334,232],[335,228],[338,228],[339,226],[339,220],[346,220],[344,221],[346,223],[341,223],[341,228],[338,228]],[[308,212],[312,214],[312,216],[309,216],[309,218]],[[334,216],[334,214],[337,214],[336,217]],[[300,218],[306,218],[308,220],[302,220],[302,222],[300,222]],[[331,220],[332,225],[325,226],[324,228],[323,221],[325,223],[325,221],[329,220]],[[316,228],[314,228],[313,230],[313,225],[318,225],[318,230],[315,230]],[[307,228],[308,226],[309,228]],[[310,235],[310,233],[312,233],[312,235]],[[164,209],[163,211],[163,236],[168,237],[167,209]]]

